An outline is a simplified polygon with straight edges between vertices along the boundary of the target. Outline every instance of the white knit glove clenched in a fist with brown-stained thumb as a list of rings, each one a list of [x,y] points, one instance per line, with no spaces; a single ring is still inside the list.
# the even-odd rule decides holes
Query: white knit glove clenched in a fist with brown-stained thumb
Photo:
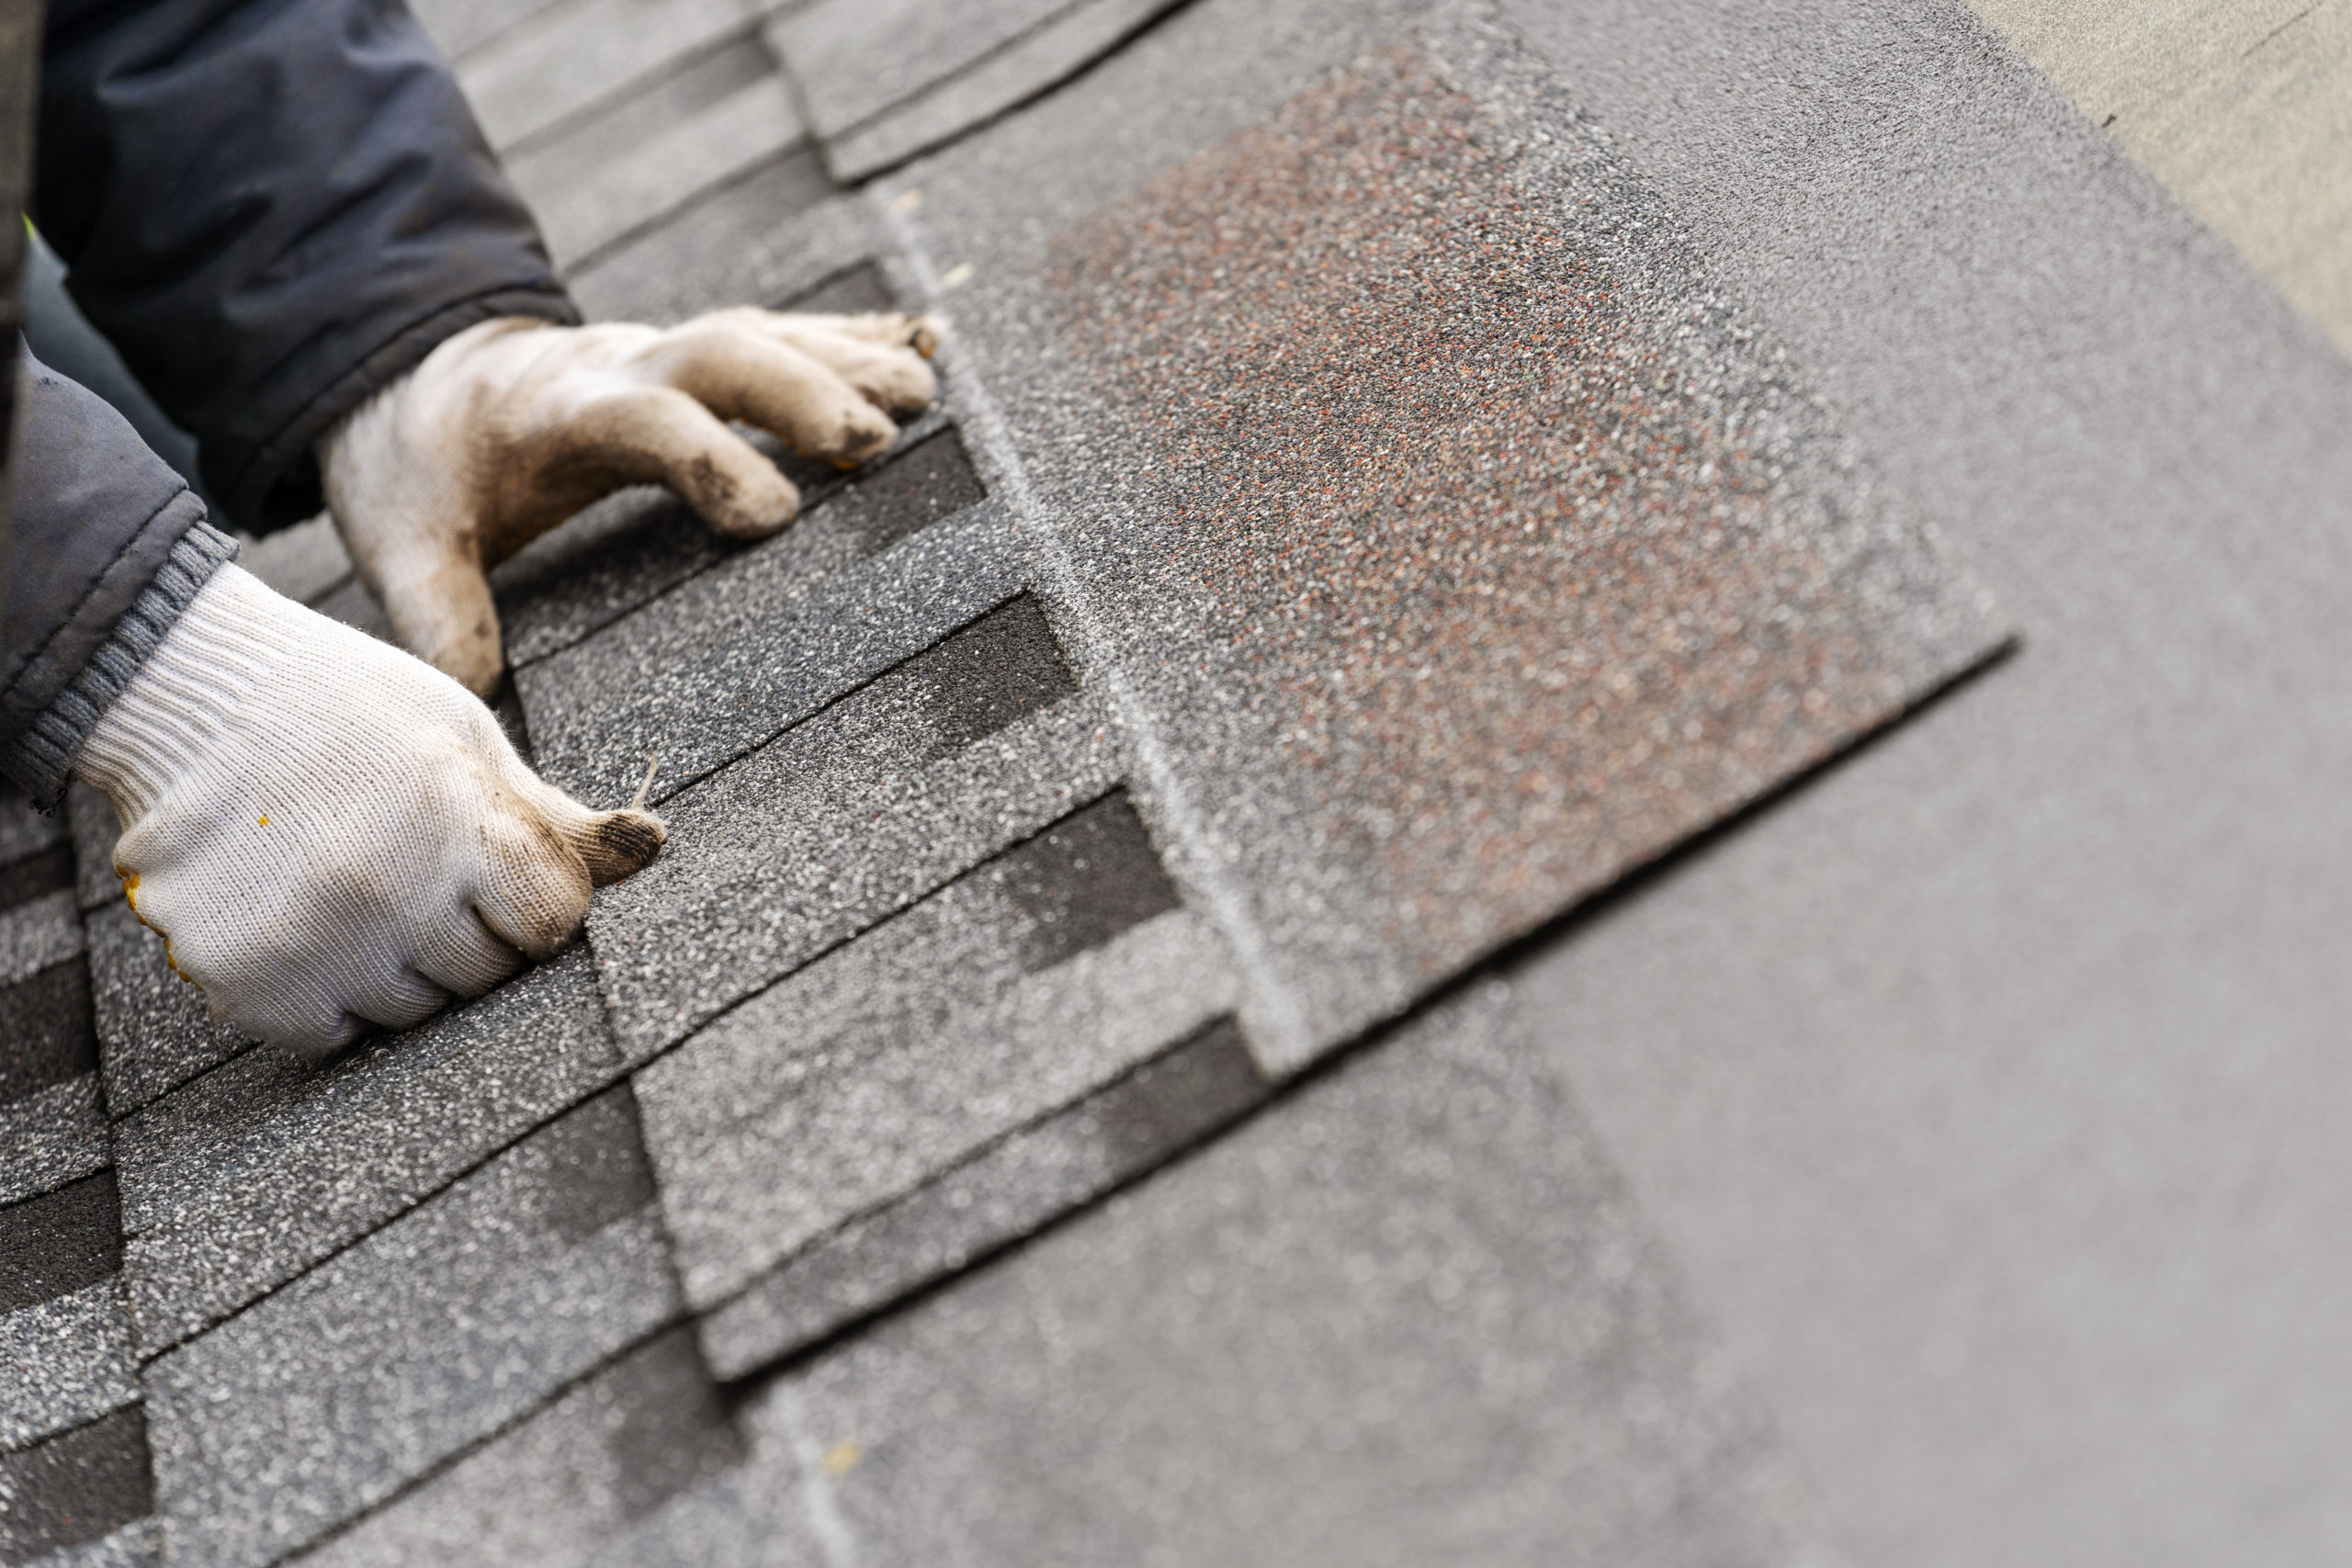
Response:
[[[475,997],[661,851],[541,780],[447,675],[221,567],[75,773],[115,872],[212,1016],[301,1056]]]

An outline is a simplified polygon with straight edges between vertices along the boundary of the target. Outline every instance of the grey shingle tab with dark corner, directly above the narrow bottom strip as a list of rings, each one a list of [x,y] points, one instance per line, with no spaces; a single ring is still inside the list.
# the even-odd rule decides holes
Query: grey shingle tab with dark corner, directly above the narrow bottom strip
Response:
[[[687,1300],[1087,1095],[1232,990],[1120,795],[969,872],[637,1074]]]

